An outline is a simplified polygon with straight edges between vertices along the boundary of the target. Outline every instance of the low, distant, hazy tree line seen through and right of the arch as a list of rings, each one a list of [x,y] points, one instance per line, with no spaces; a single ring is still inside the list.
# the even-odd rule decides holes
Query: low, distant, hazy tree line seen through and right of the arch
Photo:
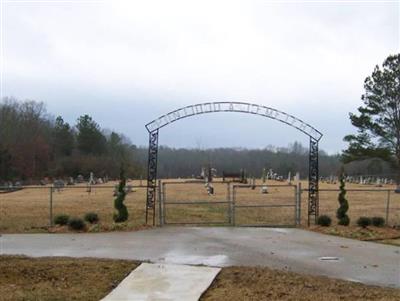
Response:
[[[136,149],[136,159],[143,167],[147,164],[147,151],[147,147]],[[221,176],[223,171],[239,172],[240,169],[245,169],[248,176],[260,178],[262,169],[266,168],[283,177],[287,177],[289,172],[292,176],[299,172],[302,178],[307,178],[308,156],[308,148],[299,142],[287,147],[269,146],[263,149],[187,149],[160,146],[157,172],[161,178],[190,178],[199,176],[202,167],[211,166],[217,169],[218,176]],[[320,151],[320,175],[339,175],[342,165],[340,159],[339,154],[329,155]],[[347,164],[346,172],[351,175],[388,175],[392,171],[382,160],[369,159]]]

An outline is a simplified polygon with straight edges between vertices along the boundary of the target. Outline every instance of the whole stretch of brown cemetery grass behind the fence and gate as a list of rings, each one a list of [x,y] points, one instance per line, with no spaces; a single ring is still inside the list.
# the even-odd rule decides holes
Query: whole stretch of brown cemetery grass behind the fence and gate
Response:
[[[171,180],[168,180],[171,181]],[[166,181],[166,182],[168,182]],[[176,181],[176,180],[175,180]],[[183,181],[183,180],[181,180]],[[136,192],[127,195],[125,204],[129,210],[129,220],[122,226],[114,225],[112,216],[114,184],[108,188],[93,186],[92,192],[86,191],[86,186],[66,187],[61,192],[53,194],[53,215],[60,213],[70,216],[80,216],[86,212],[96,212],[100,217],[100,225],[91,227],[92,231],[136,229],[145,222],[146,189],[138,188]],[[130,184],[138,185],[137,182]],[[258,181],[257,184],[261,184]],[[292,204],[294,205],[293,187],[272,187],[285,185],[284,182],[268,181],[269,194],[261,194],[260,188],[239,188],[236,193],[236,205],[260,204]],[[203,183],[167,184],[167,202],[207,201],[211,203],[227,200],[227,185],[214,184],[215,195],[209,196]],[[307,188],[307,183],[302,183]],[[321,189],[337,189],[338,185],[321,183]],[[377,188],[373,185],[347,184],[347,189],[394,189],[394,186]],[[336,222],[335,212],[338,207],[338,192],[320,192],[320,214],[328,214]],[[387,192],[351,192],[347,194],[350,210],[349,216],[355,224],[359,216],[385,217]],[[166,205],[165,216],[168,223],[228,223],[228,204],[209,205]],[[302,195],[302,224],[307,221],[307,193]],[[157,217],[158,222],[158,207]],[[235,222],[243,224],[273,224],[288,225],[294,222],[294,208],[236,208]],[[389,224],[400,224],[400,194],[391,193]],[[3,233],[43,232],[49,225],[49,188],[25,188],[21,191],[0,194],[0,231]],[[64,231],[64,229],[53,229]]]

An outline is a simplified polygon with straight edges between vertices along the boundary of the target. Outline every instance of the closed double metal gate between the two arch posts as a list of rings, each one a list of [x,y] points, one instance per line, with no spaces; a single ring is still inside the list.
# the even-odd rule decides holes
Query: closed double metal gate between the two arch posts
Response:
[[[301,187],[232,185],[213,182],[164,182],[158,185],[159,224],[295,227],[300,224]]]

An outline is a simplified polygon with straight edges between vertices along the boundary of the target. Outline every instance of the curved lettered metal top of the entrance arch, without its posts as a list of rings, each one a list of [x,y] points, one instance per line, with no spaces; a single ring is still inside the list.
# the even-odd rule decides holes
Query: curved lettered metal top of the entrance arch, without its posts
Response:
[[[154,119],[146,124],[146,129],[149,133],[152,133],[180,119],[215,112],[239,112],[260,115],[285,123],[316,141],[322,138],[320,131],[293,115],[263,105],[246,102],[205,102],[186,106]]]

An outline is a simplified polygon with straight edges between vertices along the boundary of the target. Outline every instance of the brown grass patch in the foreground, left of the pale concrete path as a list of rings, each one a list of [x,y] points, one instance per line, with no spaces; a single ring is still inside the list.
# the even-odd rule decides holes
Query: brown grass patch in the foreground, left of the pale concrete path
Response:
[[[0,256],[0,300],[99,300],[139,263]]]

